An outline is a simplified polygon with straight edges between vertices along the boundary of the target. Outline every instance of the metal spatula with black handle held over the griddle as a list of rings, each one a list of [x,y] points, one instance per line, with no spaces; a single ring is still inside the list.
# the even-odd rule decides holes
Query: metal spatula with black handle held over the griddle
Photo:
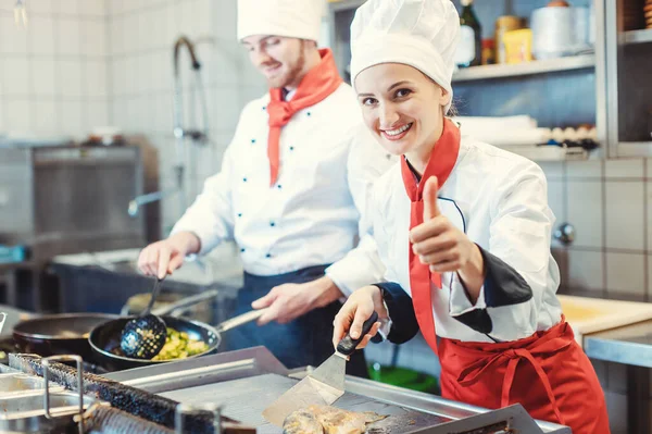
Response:
[[[269,423],[283,426],[285,419],[293,411],[313,405],[329,406],[335,402],[344,394],[344,374],[349,357],[376,321],[378,321],[378,313],[374,312],[362,325],[362,333],[358,339],[347,334],[337,345],[333,356],[272,402],[263,411],[263,417]]]

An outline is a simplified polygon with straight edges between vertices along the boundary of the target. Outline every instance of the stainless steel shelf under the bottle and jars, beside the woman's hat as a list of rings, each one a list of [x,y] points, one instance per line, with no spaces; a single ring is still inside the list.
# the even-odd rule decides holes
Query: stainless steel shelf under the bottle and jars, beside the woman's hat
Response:
[[[484,65],[460,70],[453,74],[453,83],[477,79],[517,77],[549,72],[581,70],[595,66],[595,55],[584,54],[560,59],[536,60],[518,64]]]

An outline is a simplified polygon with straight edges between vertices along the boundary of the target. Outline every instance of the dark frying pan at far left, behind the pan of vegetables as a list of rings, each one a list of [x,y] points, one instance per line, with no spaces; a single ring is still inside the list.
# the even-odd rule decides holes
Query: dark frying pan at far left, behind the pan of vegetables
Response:
[[[176,309],[196,305],[217,296],[216,290],[186,297],[175,303],[154,309],[156,314],[170,313]],[[42,357],[53,355],[79,355],[86,361],[93,360],[93,351],[88,345],[90,332],[98,325],[120,315],[109,313],[57,313],[17,323],[13,338],[22,352],[34,352]],[[97,362],[97,360],[96,360]]]

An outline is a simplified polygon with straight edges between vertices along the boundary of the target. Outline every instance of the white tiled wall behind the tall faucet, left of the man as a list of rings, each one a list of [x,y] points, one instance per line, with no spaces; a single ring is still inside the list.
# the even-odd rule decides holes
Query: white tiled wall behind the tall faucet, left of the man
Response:
[[[186,182],[189,199],[203,181],[220,170],[222,153],[231,139],[244,103],[265,91],[262,77],[250,66],[236,39],[236,1],[130,0],[109,1],[110,119],[128,133],[145,134],[159,149],[161,187],[176,186],[173,128],[173,46],[185,35],[197,46],[201,76],[208,96],[211,142],[206,147],[186,141],[188,162],[197,169]],[[186,125],[196,120],[191,102],[195,73],[183,50],[184,110]],[[199,106],[195,106],[199,108]],[[192,166],[189,165],[188,170]],[[163,201],[163,226],[180,216],[177,200]]]

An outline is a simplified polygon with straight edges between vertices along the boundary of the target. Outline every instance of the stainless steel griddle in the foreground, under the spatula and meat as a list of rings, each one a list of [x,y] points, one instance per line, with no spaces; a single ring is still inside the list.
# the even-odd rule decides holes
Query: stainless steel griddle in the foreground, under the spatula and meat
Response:
[[[280,434],[261,413],[309,371],[288,371],[267,349],[256,347],[104,376],[184,404],[220,404],[224,416],[256,426],[261,434]],[[352,376],[346,388],[336,407],[389,416],[369,425],[368,433],[489,434],[509,432],[502,430],[506,425],[518,433],[570,434],[566,426],[534,421],[518,405],[486,410]]]

